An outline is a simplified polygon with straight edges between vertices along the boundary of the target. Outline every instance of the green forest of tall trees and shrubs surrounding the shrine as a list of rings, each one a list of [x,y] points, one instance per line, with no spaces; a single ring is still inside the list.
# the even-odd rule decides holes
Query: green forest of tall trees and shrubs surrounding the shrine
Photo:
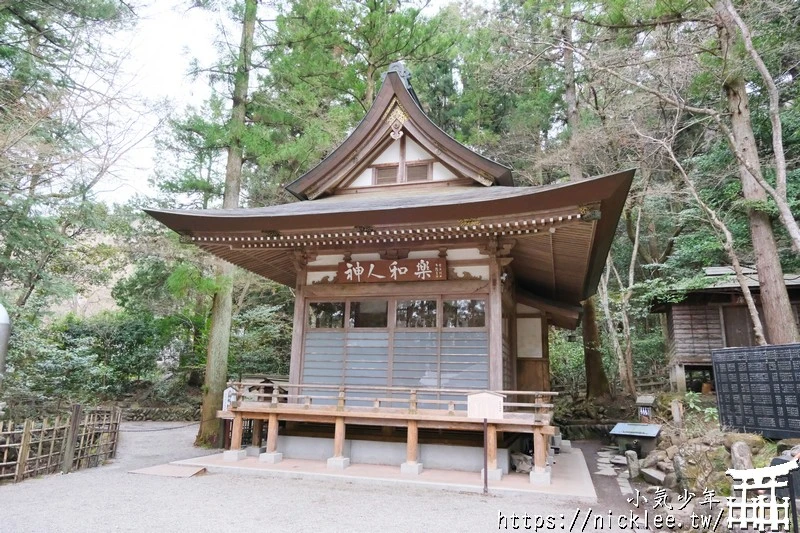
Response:
[[[708,266],[740,282],[758,267],[776,303],[752,313],[756,338],[798,340],[783,287],[800,272],[797,2],[185,7],[227,22],[208,35],[212,66],[186,62],[210,97],[167,112],[120,87],[126,56],[102,45],[137,24],[135,2],[0,1],[0,303],[13,322],[0,401],[12,411],[194,404],[228,376],[287,373],[291,289],[217,264],[142,209],[292,201],[282,186],[352,131],[394,61],[431,119],[519,186],[638,169],[581,328],[551,331],[554,386],[632,394],[665,377],[651,308],[702,286]],[[156,129],[138,129],[144,117]],[[155,192],[102,201],[145,137]],[[98,291],[113,305],[68,312]]]

